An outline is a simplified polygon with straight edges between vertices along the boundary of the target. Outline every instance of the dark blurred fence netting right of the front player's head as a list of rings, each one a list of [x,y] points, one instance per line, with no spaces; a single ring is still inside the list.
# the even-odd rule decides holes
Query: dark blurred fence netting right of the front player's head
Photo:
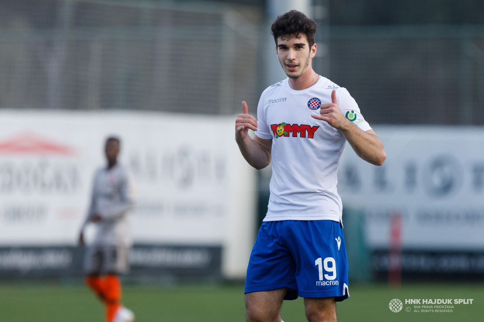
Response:
[[[430,30],[332,28],[330,78],[370,124],[484,124],[484,28]]]

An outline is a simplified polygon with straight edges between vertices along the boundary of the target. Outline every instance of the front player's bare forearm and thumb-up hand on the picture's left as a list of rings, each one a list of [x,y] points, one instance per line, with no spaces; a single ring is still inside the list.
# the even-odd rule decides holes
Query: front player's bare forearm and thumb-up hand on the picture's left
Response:
[[[254,168],[262,169],[271,163],[272,139],[265,140],[257,135],[252,139],[249,136],[249,128],[257,131],[257,120],[248,114],[245,101],[242,102],[242,114],[235,120],[235,141],[239,145],[242,156]]]

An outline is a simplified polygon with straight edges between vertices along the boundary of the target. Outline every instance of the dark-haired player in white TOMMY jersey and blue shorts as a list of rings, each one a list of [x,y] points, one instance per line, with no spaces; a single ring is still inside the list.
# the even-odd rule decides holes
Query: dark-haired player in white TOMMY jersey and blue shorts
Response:
[[[248,322],[281,322],[283,300],[298,296],[308,321],[336,321],[335,302],[349,297],[336,191],[340,156],[348,141],[371,164],[386,158],[348,91],[312,69],[317,27],[295,10],[277,17],[271,31],[287,78],[264,90],[257,120],[242,102],[235,122],[245,160],[257,169],[272,160],[268,211],[247,268]],[[256,131],[254,139],[248,129]]]

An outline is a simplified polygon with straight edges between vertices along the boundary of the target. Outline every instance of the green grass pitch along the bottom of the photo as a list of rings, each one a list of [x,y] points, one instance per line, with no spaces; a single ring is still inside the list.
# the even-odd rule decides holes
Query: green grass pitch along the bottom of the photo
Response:
[[[483,284],[350,285],[350,298],[337,305],[338,321],[446,322],[484,321]],[[403,301],[393,313],[389,302]],[[451,313],[414,312],[406,298],[473,298],[472,304],[454,305]],[[243,322],[243,286],[125,286],[123,303],[136,313],[137,322]],[[405,309],[411,307],[411,312]],[[285,322],[304,322],[303,300],[285,301]],[[1,322],[103,322],[103,307],[83,286],[0,284]]]

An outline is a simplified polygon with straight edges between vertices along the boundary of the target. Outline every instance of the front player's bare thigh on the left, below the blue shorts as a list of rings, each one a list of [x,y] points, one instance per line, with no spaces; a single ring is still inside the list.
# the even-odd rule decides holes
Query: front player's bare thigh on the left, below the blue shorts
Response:
[[[272,321],[279,316],[287,287],[245,294],[247,321]]]

